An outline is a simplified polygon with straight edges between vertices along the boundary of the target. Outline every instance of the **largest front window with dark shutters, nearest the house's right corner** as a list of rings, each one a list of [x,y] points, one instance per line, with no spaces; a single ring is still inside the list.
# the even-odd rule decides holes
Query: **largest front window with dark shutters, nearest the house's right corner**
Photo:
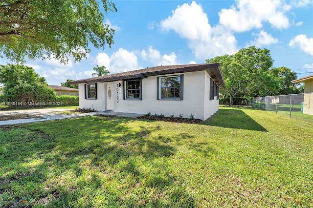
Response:
[[[158,100],[183,100],[183,75],[158,77]]]

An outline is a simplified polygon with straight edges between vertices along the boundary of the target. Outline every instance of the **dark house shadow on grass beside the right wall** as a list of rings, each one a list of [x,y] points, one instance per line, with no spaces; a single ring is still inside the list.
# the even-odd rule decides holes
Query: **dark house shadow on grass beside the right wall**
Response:
[[[202,124],[225,128],[267,131],[241,109],[220,109],[218,113]]]

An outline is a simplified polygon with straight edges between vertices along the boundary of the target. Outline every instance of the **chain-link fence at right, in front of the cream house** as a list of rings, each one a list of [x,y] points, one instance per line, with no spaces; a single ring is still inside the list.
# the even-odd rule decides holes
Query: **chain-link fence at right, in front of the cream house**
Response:
[[[313,123],[313,93],[260,97],[250,101],[249,105]]]

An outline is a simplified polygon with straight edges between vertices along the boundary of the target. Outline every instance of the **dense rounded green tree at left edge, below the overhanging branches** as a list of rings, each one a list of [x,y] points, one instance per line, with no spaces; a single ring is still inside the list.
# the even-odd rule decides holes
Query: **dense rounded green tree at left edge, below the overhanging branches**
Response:
[[[7,102],[25,105],[50,102],[55,98],[55,92],[48,87],[45,78],[29,66],[10,63],[0,65],[0,83],[3,83],[3,95]]]

